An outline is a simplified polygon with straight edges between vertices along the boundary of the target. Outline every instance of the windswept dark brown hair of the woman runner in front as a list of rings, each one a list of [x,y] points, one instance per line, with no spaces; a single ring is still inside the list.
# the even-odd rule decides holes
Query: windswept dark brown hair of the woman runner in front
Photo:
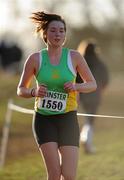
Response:
[[[48,25],[51,21],[61,21],[64,24],[64,29],[66,32],[66,23],[65,23],[64,19],[57,14],[48,14],[48,13],[44,13],[43,11],[42,12],[34,12],[34,13],[32,13],[32,16],[30,18],[36,24],[35,32],[37,34],[42,32],[43,40],[45,42],[47,42],[46,31],[47,31]]]

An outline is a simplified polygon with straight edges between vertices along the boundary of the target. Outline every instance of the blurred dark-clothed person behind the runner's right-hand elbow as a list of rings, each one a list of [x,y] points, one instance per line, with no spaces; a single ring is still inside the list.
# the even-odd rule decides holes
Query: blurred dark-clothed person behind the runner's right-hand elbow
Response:
[[[82,41],[78,46],[78,51],[84,56],[97,82],[96,91],[79,94],[79,103],[86,113],[96,114],[103,91],[108,85],[108,70],[98,55],[95,41]],[[76,81],[78,83],[82,82],[79,74],[77,75]],[[94,119],[93,116],[85,117],[85,122],[80,133],[80,141],[83,143],[86,153],[95,153],[95,148],[93,146]]]

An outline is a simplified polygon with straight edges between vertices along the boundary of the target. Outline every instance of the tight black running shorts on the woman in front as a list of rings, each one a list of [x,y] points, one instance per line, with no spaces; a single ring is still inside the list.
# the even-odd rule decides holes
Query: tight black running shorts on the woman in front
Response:
[[[42,115],[36,112],[33,133],[39,146],[47,142],[57,142],[58,146],[79,147],[77,111],[58,115]]]

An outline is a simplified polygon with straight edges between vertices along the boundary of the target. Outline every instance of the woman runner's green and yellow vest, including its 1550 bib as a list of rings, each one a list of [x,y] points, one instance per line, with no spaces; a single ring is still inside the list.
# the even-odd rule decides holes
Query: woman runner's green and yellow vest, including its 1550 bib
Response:
[[[47,49],[42,49],[40,64],[36,81],[37,84],[45,84],[48,91],[44,98],[35,99],[35,111],[44,115],[54,115],[76,110],[77,92],[67,93],[64,90],[64,83],[69,81],[74,83],[76,80],[69,49],[62,49],[58,65],[52,65]]]

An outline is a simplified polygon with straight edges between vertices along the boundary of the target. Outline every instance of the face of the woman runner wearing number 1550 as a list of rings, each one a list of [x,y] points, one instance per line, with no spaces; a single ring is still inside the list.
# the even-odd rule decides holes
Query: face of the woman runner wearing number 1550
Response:
[[[61,21],[52,21],[47,29],[47,44],[55,47],[62,46],[65,41],[65,28]]]

